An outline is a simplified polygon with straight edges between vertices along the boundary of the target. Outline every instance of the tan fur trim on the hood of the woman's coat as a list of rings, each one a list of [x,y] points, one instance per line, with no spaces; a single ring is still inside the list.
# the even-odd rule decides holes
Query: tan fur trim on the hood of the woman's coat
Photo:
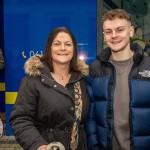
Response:
[[[29,58],[24,65],[25,73],[29,76],[40,76],[41,69],[44,67],[43,62],[41,61],[41,57],[43,55],[34,55],[33,57]],[[82,74],[88,75],[89,73],[89,66],[79,58],[77,59],[77,67],[78,70],[81,71]]]

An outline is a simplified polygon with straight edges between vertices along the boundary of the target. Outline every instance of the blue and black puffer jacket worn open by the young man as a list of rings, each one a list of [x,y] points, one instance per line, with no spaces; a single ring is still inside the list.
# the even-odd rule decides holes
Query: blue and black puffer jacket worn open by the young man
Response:
[[[134,51],[134,63],[128,77],[131,149],[149,150],[150,58],[137,44],[131,45],[131,49]],[[87,80],[87,87],[91,109],[86,123],[89,150],[112,150],[116,71],[109,62],[110,55],[109,48],[103,50],[89,70],[91,78]]]

